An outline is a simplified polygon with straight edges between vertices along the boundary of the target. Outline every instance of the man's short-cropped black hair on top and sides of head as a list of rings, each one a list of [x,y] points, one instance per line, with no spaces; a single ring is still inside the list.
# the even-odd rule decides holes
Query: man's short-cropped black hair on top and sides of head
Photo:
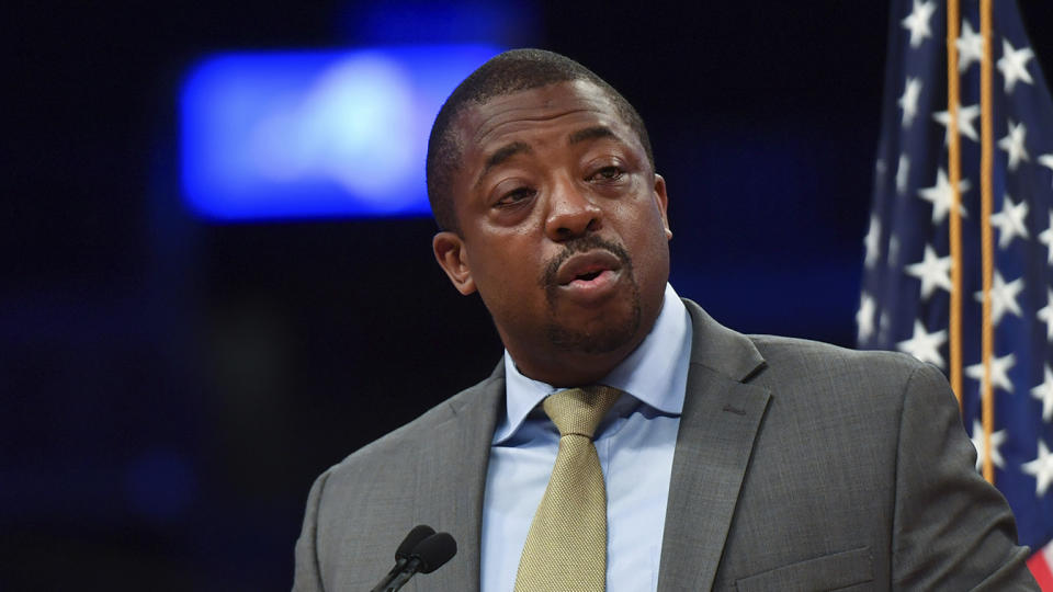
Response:
[[[468,106],[480,105],[496,96],[575,80],[587,80],[603,91],[623,122],[636,133],[647,153],[652,171],[655,157],[644,119],[613,87],[577,61],[544,49],[512,49],[490,58],[454,89],[439,110],[428,139],[428,201],[442,230],[458,231],[451,185],[460,167],[464,146],[452,129],[457,116]]]

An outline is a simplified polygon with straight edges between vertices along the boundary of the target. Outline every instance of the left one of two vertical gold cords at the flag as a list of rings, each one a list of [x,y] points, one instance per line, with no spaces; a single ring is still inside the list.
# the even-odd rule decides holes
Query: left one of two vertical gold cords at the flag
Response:
[[[959,0],[947,0],[947,112],[950,121],[948,129],[948,175],[951,183],[951,217],[950,217],[950,250],[951,250],[951,306],[948,333],[950,337],[951,357],[951,390],[958,398],[959,409],[962,407],[962,217],[961,217],[961,178],[962,157],[961,137],[958,133],[958,105],[961,91],[958,76],[958,32]]]

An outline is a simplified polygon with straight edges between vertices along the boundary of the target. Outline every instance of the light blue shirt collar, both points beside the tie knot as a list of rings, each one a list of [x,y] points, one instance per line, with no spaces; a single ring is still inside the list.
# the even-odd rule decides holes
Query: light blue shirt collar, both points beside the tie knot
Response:
[[[679,415],[691,358],[691,318],[680,297],[666,284],[661,311],[650,332],[600,384],[621,389],[656,410]],[[526,415],[548,395],[559,390],[523,376],[505,350],[505,418],[494,432],[499,444],[519,430]]]

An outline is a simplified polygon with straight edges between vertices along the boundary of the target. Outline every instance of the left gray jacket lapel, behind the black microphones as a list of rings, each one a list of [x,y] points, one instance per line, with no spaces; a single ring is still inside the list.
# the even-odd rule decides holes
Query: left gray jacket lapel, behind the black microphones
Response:
[[[479,590],[483,490],[503,397],[503,365],[499,364],[489,379],[449,402],[450,417],[421,443],[414,498],[417,524],[449,532],[457,542],[457,555],[419,580],[426,590]]]

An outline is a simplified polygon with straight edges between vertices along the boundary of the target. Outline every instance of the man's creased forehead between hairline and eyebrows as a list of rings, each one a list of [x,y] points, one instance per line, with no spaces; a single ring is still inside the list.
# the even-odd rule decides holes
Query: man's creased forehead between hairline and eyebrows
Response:
[[[578,127],[602,125],[626,140],[634,137],[610,96],[587,80],[548,84],[495,96],[472,105],[458,117],[456,130],[462,159],[534,134],[571,134]]]

